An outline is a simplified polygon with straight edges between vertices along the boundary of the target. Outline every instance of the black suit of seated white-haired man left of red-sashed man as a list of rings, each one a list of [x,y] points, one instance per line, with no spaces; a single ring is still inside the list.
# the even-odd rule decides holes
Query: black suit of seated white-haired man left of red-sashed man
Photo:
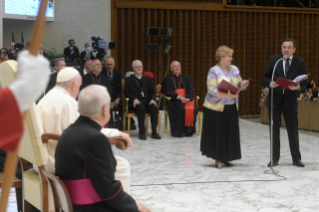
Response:
[[[142,76],[138,79],[135,75],[125,78],[124,96],[130,99],[129,107],[136,112],[139,133],[145,133],[145,113],[150,113],[152,123],[152,134],[156,134],[158,109],[155,104],[149,104],[151,100],[156,102],[156,94],[153,88],[151,78]],[[133,108],[135,99],[140,101],[140,104]]]

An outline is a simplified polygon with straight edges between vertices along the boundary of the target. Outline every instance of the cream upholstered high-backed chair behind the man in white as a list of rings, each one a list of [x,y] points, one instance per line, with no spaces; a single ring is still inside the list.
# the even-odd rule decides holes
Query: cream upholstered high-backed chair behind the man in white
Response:
[[[3,87],[14,81],[17,69],[18,63],[16,61],[9,60],[1,63],[0,80]],[[25,212],[29,211],[29,204],[32,204],[42,212],[49,210],[48,182],[41,171],[45,170],[44,165],[48,161],[47,150],[41,140],[42,134],[42,124],[36,106],[33,104],[24,113],[24,133],[18,151],[23,173],[23,211]],[[28,170],[27,162],[37,166],[41,174],[39,175],[34,169]]]

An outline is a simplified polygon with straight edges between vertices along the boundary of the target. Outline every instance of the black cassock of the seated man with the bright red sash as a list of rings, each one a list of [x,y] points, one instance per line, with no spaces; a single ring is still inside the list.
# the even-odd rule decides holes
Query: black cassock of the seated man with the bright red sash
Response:
[[[171,97],[171,100],[167,104],[167,112],[171,125],[171,133],[175,137],[182,137],[184,134],[192,135],[195,132],[197,116],[196,101],[194,101],[195,119],[193,126],[185,126],[185,105],[177,99],[178,94],[175,93],[176,89],[182,88],[186,91],[186,98],[192,101],[195,98],[195,88],[189,76],[181,74],[179,77],[176,77],[170,74],[163,80],[161,93]]]

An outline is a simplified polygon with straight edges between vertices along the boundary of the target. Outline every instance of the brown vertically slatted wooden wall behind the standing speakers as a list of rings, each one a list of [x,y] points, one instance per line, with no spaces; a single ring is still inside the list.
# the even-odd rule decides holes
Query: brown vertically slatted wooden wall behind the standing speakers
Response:
[[[295,55],[305,59],[310,80],[319,84],[318,14],[117,8],[116,23],[117,36],[113,40],[117,50],[113,56],[117,68],[124,74],[132,70],[132,60],[141,59],[145,70],[154,73],[155,84],[161,83],[159,78],[165,75],[169,55],[161,54],[159,76],[158,52],[145,50],[145,44],[156,42],[146,35],[147,27],[173,28],[170,56],[179,60],[183,73],[192,78],[201,98],[200,106],[206,95],[207,72],[216,64],[215,50],[220,45],[234,49],[233,64],[240,69],[242,78],[251,77],[250,87],[240,94],[240,115],[260,114],[262,74],[270,56],[281,52],[281,42],[286,37],[296,40]]]

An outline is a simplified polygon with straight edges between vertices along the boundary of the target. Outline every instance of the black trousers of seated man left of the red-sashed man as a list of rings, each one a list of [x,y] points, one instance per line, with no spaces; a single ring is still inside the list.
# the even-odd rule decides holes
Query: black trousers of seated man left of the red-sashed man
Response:
[[[139,133],[145,133],[145,113],[150,113],[151,115],[151,124],[152,124],[152,133],[156,133],[157,127],[157,116],[158,116],[158,109],[157,106],[154,104],[149,104],[150,101],[148,100],[139,100],[141,103],[136,105],[133,110],[137,115],[138,120],[138,128]]]

